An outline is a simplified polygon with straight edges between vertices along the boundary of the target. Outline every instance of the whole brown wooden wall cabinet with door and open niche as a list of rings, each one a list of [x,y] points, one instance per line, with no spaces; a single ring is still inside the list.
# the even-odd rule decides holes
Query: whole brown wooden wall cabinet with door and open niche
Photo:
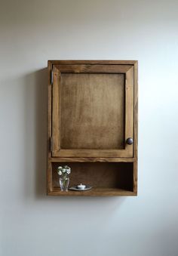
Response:
[[[48,61],[48,195],[137,195],[137,61]],[[60,191],[58,165],[72,168]]]

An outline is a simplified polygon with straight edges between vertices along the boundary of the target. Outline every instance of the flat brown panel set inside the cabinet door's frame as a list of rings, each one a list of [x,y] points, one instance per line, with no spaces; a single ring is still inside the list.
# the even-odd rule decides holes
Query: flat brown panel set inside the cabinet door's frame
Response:
[[[124,149],[124,74],[61,73],[61,149]]]

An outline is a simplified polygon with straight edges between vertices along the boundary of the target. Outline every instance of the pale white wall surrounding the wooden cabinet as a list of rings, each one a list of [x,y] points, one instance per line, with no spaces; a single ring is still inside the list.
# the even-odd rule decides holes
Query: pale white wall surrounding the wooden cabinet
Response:
[[[0,255],[178,255],[178,2],[0,8]],[[47,60],[139,60],[139,196],[45,195]]]

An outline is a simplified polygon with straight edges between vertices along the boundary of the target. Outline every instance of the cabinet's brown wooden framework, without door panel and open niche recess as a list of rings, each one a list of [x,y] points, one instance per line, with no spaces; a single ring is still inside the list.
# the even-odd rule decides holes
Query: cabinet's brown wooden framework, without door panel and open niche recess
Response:
[[[100,72],[100,66],[102,66],[103,72],[125,72],[127,76],[127,82],[130,79],[130,73],[133,72],[133,119],[130,119],[128,115],[128,124],[133,124],[133,151],[125,157],[121,155],[120,150],[102,150],[103,152],[98,154],[96,150],[60,150],[59,145],[55,144],[53,140],[53,150],[51,151],[51,137],[53,129],[58,129],[53,122],[53,104],[56,103],[52,95],[57,95],[57,87],[53,85],[59,81],[60,72],[73,72],[75,65],[75,72],[88,72],[88,68],[92,72]],[[89,65],[89,66],[88,66]],[[94,65],[94,69],[93,69]],[[109,66],[112,65],[112,69]],[[97,67],[97,69],[96,69]],[[114,71],[113,71],[114,70]],[[48,61],[48,195],[63,195],[63,196],[136,196],[137,195],[137,111],[138,111],[138,85],[137,85],[137,60],[49,60]],[[51,74],[53,72],[53,81]],[[52,85],[53,82],[53,85]],[[130,82],[128,83],[130,84]],[[130,88],[127,87],[127,90]],[[57,109],[59,111],[59,109]],[[127,117],[126,117],[127,118]],[[128,125],[129,126],[129,125]],[[127,132],[127,131],[126,131]],[[128,133],[129,134],[129,133]],[[131,135],[131,134],[130,134]],[[132,137],[132,136],[128,136]],[[133,152],[133,153],[132,153]],[[103,190],[101,188],[94,188],[84,193],[72,192],[62,193],[58,188],[53,187],[52,184],[52,163],[53,162],[133,162],[133,191],[108,188]]]

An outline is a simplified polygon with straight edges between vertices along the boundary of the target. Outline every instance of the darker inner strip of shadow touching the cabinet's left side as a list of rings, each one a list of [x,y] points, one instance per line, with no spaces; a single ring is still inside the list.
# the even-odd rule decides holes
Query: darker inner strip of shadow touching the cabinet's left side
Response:
[[[41,197],[46,196],[48,69],[41,69],[38,72],[36,72],[35,81],[35,194],[37,197]]]

